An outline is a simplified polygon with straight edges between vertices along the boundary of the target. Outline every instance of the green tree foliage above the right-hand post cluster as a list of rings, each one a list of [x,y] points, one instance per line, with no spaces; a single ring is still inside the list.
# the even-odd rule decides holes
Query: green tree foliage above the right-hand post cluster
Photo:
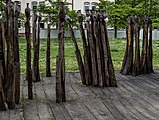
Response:
[[[108,14],[108,24],[125,28],[129,15],[138,15],[140,22],[147,15],[153,17],[153,27],[159,27],[159,1],[158,0],[99,0],[99,10]]]

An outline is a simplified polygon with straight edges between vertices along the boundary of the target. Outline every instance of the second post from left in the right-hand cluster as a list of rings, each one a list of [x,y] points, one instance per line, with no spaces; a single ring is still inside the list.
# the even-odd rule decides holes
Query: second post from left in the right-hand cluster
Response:
[[[134,33],[135,33],[135,60],[133,65],[133,75],[137,76],[141,74],[140,71],[140,26],[139,26],[139,18],[135,17],[135,26],[134,26]]]

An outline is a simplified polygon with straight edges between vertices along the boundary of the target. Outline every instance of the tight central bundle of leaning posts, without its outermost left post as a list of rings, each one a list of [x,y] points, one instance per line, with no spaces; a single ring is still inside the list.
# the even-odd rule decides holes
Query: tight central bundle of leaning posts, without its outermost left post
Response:
[[[78,11],[83,48],[85,49],[84,70],[87,76],[85,76],[86,85],[117,87],[105,23],[106,17],[106,14],[102,12],[86,11],[87,42],[82,28],[81,13]]]

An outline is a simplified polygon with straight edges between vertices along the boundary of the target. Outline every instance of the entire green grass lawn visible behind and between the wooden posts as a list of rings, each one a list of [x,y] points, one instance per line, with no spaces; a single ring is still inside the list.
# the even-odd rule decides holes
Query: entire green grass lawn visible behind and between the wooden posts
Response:
[[[82,41],[77,40],[81,53],[83,54]],[[123,56],[125,53],[126,39],[110,39],[110,48],[112,54],[112,60],[114,63],[115,70],[120,70],[122,65]],[[21,72],[26,71],[26,40],[20,39],[20,60],[21,60]],[[45,73],[46,68],[46,39],[40,41],[40,72]],[[141,43],[142,46],[142,43]],[[67,72],[77,72],[78,65],[74,53],[74,45],[72,40],[65,40],[65,62]],[[58,53],[58,42],[57,40],[51,40],[51,71],[56,70],[56,56]],[[32,54],[33,56],[33,54]],[[33,57],[32,57],[33,58]],[[33,60],[33,59],[32,59]],[[153,41],[153,65],[154,69],[159,68],[159,41]]]

